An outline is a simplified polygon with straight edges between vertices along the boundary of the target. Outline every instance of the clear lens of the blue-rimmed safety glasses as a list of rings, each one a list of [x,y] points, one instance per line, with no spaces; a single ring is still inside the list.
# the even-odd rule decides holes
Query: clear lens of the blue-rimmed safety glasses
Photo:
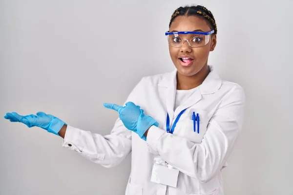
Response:
[[[168,35],[168,43],[172,47],[181,47],[182,43],[187,40],[191,47],[202,47],[209,43],[210,35],[201,34],[175,34]]]

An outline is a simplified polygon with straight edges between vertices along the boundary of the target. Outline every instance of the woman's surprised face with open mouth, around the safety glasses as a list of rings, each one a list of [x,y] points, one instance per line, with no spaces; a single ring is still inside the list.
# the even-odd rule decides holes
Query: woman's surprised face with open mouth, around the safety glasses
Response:
[[[171,23],[169,32],[172,31],[211,31],[205,19],[196,16],[178,16]],[[181,36],[181,35],[180,35]],[[191,36],[191,37],[190,37]],[[192,39],[192,34],[182,35],[184,39]],[[169,45],[169,52],[178,74],[184,76],[194,76],[208,65],[209,52],[216,46],[216,36],[210,36],[209,43],[202,47],[189,47],[187,41],[184,41],[180,48]],[[182,58],[189,58],[182,61]],[[190,60],[191,59],[191,60]]]

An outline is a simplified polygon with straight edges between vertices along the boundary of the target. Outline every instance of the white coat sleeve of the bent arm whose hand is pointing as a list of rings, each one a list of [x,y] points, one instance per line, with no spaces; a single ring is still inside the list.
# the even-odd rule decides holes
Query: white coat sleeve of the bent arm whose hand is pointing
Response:
[[[174,168],[205,183],[223,167],[242,128],[245,94],[236,86],[222,99],[200,144],[152,126],[146,142]]]

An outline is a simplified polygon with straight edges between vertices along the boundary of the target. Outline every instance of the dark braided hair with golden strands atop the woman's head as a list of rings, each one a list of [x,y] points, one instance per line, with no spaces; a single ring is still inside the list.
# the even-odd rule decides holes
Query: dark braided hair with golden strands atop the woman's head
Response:
[[[169,28],[171,26],[171,23],[177,16],[198,16],[204,18],[208,24],[209,27],[214,30],[214,34],[217,34],[217,25],[215,22],[215,19],[212,15],[212,13],[205,8],[204,6],[197,5],[197,6],[185,6],[185,7],[179,7],[174,11],[174,13],[171,16],[171,20],[169,23]]]

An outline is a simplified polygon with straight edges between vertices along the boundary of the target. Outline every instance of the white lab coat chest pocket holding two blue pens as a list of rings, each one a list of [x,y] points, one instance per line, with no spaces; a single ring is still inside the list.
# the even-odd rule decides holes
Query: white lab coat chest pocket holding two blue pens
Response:
[[[192,119],[193,112],[195,112],[195,115],[198,113],[199,129],[198,129],[198,121],[195,121],[194,123],[194,120]],[[188,117],[180,121],[180,129],[177,130],[178,136],[185,137],[189,141],[192,141],[195,143],[201,143],[204,135],[207,132],[207,126],[208,126],[208,121],[207,121],[206,112],[203,110],[195,111],[191,109],[188,112]]]

